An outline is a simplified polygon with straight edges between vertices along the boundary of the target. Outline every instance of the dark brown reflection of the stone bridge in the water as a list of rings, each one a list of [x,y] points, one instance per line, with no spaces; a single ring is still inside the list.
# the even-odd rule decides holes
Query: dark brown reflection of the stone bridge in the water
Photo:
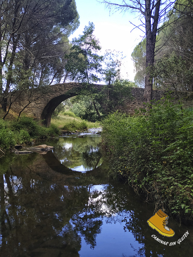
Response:
[[[27,161],[24,167],[17,166],[17,162],[11,162],[11,172],[17,177],[26,177],[29,173],[35,180],[48,180],[50,183],[59,183],[66,186],[82,186],[89,184],[108,184],[108,172],[103,162],[91,171],[81,173],[72,171],[70,168],[61,164],[52,151],[46,154],[36,154],[25,156]],[[15,161],[15,159],[13,159]],[[105,170],[105,172],[104,172]]]

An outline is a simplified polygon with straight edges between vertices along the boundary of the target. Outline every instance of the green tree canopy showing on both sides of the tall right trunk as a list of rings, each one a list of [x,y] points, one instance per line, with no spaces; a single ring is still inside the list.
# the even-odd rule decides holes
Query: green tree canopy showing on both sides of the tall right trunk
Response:
[[[191,1],[176,1],[162,24],[163,29],[157,35],[152,71],[155,88],[193,90],[192,13]],[[139,43],[132,53],[136,69],[135,81],[139,86],[143,86],[145,78],[145,40]]]

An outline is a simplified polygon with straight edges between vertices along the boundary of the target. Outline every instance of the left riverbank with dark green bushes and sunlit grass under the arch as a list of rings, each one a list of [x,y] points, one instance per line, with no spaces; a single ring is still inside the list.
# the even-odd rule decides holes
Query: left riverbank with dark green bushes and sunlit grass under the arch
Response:
[[[16,144],[30,145],[63,133],[87,131],[91,127],[99,127],[99,124],[69,115],[52,118],[49,127],[41,126],[30,117],[20,117],[18,121],[14,117],[6,121],[0,119],[0,149],[5,151]]]

